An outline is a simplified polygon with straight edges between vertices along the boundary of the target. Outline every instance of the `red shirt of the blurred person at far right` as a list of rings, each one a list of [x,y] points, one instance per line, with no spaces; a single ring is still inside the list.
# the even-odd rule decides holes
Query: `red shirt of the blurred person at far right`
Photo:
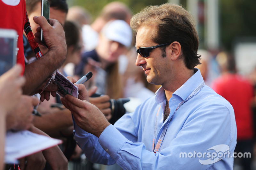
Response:
[[[238,74],[227,73],[213,82],[212,89],[233,106],[236,118],[237,140],[252,139],[253,115],[251,102],[253,86]]]

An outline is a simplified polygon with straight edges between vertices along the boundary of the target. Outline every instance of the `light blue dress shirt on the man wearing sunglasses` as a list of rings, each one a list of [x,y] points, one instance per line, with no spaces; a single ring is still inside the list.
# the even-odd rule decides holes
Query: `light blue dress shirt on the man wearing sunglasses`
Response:
[[[80,129],[74,122],[75,139],[92,162],[117,163],[127,170],[231,170],[231,157],[236,146],[234,110],[227,100],[206,85],[176,111],[159,152],[152,152],[159,107],[154,147],[164,124],[202,81],[200,71],[195,69],[195,74],[172,94],[169,100],[171,112],[165,122],[166,98],[164,89],[160,87],[156,96],[142,103],[134,113],[125,114],[114,126],[109,125],[99,138]]]

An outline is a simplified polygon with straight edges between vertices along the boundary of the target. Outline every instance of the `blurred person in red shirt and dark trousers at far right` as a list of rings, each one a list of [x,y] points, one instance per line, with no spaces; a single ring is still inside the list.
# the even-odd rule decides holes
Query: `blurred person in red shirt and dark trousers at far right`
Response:
[[[221,75],[213,81],[212,89],[228,100],[234,108],[237,127],[237,144],[234,152],[251,153],[251,158],[236,158],[234,164],[241,165],[244,170],[250,170],[254,145],[253,86],[248,79],[237,73],[232,54],[220,52],[216,56],[216,61],[220,66]]]

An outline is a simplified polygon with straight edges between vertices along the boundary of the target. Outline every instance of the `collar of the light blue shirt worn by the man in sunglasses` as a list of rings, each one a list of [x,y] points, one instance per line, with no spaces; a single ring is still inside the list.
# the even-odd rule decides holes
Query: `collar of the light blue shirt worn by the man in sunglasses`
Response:
[[[188,95],[190,95],[200,83],[203,81],[203,77],[200,73],[199,69],[194,69],[195,74],[191,76],[183,85],[180,86],[173,94],[172,96],[179,96],[182,100],[186,100]],[[164,93],[164,88],[161,86],[157,91],[156,91],[156,103],[159,104],[162,101],[164,101],[165,98],[165,93]]]

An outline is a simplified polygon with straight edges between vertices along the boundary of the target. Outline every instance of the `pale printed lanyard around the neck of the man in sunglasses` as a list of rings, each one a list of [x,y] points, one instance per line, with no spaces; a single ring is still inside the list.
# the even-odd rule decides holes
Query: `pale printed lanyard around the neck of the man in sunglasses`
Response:
[[[178,110],[178,108],[180,108],[181,105],[183,105],[185,102],[187,102],[188,100],[192,99],[202,88],[204,87],[204,81],[202,81],[202,83],[200,85],[198,85],[196,87],[196,89],[187,97],[187,99],[183,100],[182,102],[180,102],[179,106],[176,108],[175,112],[172,114],[172,116],[176,113],[176,111]],[[161,107],[161,106],[160,106]],[[158,108],[158,111],[157,111],[157,114],[156,114],[156,122],[155,122],[155,128],[154,128],[154,135],[153,135],[153,147],[152,147],[152,151],[154,150],[154,146],[155,146],[155,138],[156,138],[156,127],[157,127],[157,117],[158,117],[158,113],[159,113],[159,110],[160,110],[160,107]],[[155,150],[154,150],[154,153],[158,152],[162,143],[163,143],[163,140],[164,140],[164,136],[165,136],[165,133],[167,131],[167,127],[169,125],[169,122],[170,120],[172,119],[172,116],[171,118],[165,123],[164,125],[164,128],[162,130],[162,133],[156,143],[156,147],[155,147]]]

